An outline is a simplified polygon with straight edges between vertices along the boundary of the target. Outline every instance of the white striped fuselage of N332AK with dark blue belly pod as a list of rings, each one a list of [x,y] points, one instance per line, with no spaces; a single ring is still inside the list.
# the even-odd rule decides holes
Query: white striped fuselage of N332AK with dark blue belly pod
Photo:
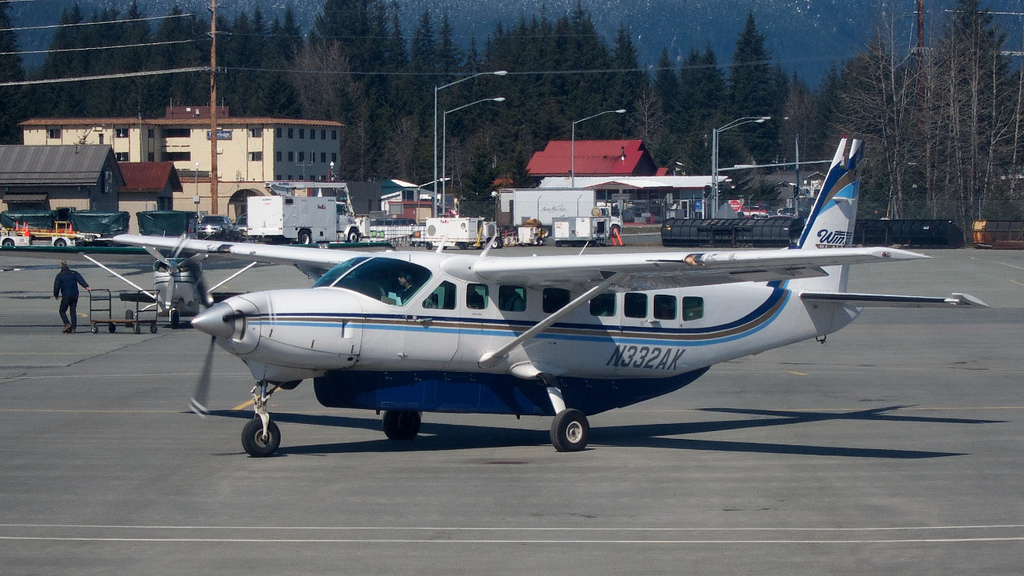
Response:
[[[481,363],[583,290],[469,282],[439,272],[458,262],[436,260],[471,257],[416,256],[374,258],[382,270],[348,287],[329,279],[228,299],[224,315],[236,319],[218,343],[257,379],[316,378],[328,406],[551,414],[536,380],[545,373],[593,414],[681,387],[719,362],[838,330],[857,312],[805,304],[785,283],[608,291]],[[417,260],[434,273],[398,296],[384,269]],[[371,278],[384,287],[368,287]]]

